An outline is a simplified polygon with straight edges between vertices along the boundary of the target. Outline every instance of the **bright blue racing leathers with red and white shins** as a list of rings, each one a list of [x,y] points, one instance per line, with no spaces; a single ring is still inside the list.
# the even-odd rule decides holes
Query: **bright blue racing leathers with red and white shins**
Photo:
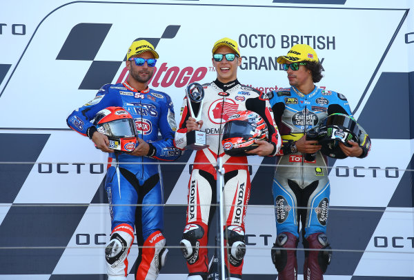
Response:
[[[173,145],[177,129],[174,108],[164,92],[150,88],[138,91],[127,82],[106,84],[95,99],[70,114],[68,126],[92,138],[97,130],[92,119],[99,110],[110,106],[123,107],[132,115],[137,137],[144,139],[150,150],[146,157],[124,152],[108,154],[105,188],[112,230],[105,250],[108,279],[126,279],[134,227],[139,246],[135,279],[156,279],[168,250],[164,248],[166,239],[161,233],[164,230],[164,210],[160,207],[164,203],[163,191],[158,165],[154,163],[158,159],[173,161],[181,155],[181,150]],[[137,204],[143,206],[136,207]]]

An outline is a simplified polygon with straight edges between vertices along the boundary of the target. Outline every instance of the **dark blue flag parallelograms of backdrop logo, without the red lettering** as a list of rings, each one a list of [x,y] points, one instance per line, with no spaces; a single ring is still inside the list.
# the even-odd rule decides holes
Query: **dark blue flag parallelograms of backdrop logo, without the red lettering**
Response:
[[[119,54],[119,61],[95,60],[111,27],[112,23],[79,23],[70,30],[65,43],[57,54],[57,60],[92,61],[88,72],[79,85],[79,90],[99,90],[103,84],[113,81],[121,64],[126,61],[126,52]],[[157,48],[161,39],[174,38],[180,27],[167,26],[161,38],[139,37],[135,41],[145,39],[152,43],[154,48]],[[125,46],[125,50],[127,49],[128,46]]]

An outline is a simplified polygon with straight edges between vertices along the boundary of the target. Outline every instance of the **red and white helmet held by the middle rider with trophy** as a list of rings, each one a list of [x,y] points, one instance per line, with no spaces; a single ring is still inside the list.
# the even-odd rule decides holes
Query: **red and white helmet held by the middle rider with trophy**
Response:
[[[256,139],[268,139],[266,122],[256,112],[246,110],[236,112],[228,118],[221,144],[226,154],[243,157],[248,155],[248,150],[257,148]]]

